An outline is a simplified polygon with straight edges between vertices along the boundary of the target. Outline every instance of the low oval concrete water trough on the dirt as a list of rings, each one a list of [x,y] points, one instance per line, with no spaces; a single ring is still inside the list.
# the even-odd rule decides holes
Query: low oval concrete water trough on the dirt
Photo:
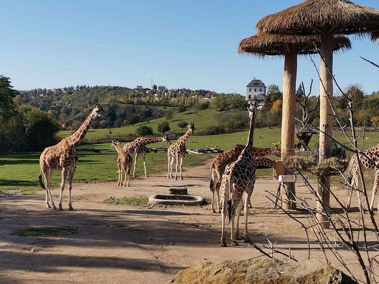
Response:
[[[201,205],[204,197],[198,195],[182,194],[155,194],[149,197],[151,204],[163,205]]]

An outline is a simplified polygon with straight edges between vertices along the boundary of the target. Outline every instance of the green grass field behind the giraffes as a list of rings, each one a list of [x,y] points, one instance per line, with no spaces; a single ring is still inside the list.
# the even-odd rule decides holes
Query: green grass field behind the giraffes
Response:
[[[202,115],[207,115],[208,119],[210,119],[210,117],[213,117],[213,115],[211,115],[211,111],[212,110],[204,111]],[[183,117],[184,116],[185,115],[183,115]],[[203,119],[204,116],[202,117]],[[201,127],[200,120],[197,122],[195,121],[195,124],[196,123],[197,127]],[[108,130],[92,130],[92,137],[101,137],[104,131]],[[280,140],[280,132],[281,130],[278,128],[256,129],[254,133],[254,146],[261,148],[274,147],[274,143],[277,143]],[[227,151],[235,144],[245,144],[246,140],[242,140],[242,138],[246,138],[247,134],[248,130],[242,130],[232,134],[189,136],[188,141],[192,141],[194,143],[188,143],[186,144],[186,147],[189,149],[197,147],[204,148],[205,146],[217,146],[221,147],[224,151]],[[376,135],[376,133],[372,133],[371,138],[365,140],[365,148],[372,147],[378,143],[378,139],[373,137],[374,134]],[[116,136],[117,134],[113,132],[113,135]],[[262,139],[259,139],[259,136],[261,136]],[[342,143],[346,142],[346,139],[342,133],[336,133],[336,138]],[[310,142],[310,146],[312,147],[316,141],[317,136],[314,135]],[[161,142],[157,144],[151,144],[149,147],[160,147],[162,145],[165,147],[168,146],[167,144]],[[360,145],[362,145],[362,141],[360,142]],[[101,153],[93,153],[91,151],[91,148],[100,150]],[[74,176],[75,182],[89,183],[117,181],[117,153],[114,148],[111,147],[110,143],[81,145],[78,148],[77,153],[79,156],[79,161],[77,171]],[[35,190],[40,190],[41,187],[39,187],[38,184],[40,154],[41,153],[20,153],[0,156],[0,190],[18,189],[25,194],[34,194]],[[211,159],[214,156],[215,154],[187,154],[183,162],[183,167],[186,168],[201,165],[205,160]],[[166,152],[146,154],[146,162],[148,174],[162,173],[162,175],[166,175]],[[136,175],[143,176],[143,174],[143,162],[142,158],[140,157],[136,168]],[[271,175],[271,169],[257,170],[258,177],[269,177]],[[58,187],[60,178],[60,172],[55,172],[52,180],[52,187]]]

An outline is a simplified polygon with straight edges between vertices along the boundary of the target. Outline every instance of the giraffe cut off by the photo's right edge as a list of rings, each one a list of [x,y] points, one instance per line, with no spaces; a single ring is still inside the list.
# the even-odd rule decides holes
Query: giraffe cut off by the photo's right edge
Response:
[[[379,144],[374,147],[364,150],[363,153],[368,157],[366,158],[365,156],[363,156],[363,154],[359,154],[360,166],[362,167],[363,174],[367,172],[375,171],[373,196],[371,198],[371,203],[370,203],[370,210],[373,211],[375,195],[376,195],[377,190],[379,189]],[[352,191],[353,189],[357,189],[359,187],[359,181],[360,181],[357,155],[352,156],[349,163],[350,163],[350,172],[348,175],[348,181],[350,183],[350,186],[349,186],[349,198],[348,198],[347,208],[350,208]],[[356,194],[360,202],[359,192],[356,191]],[[379,210],[379,203],[377,205],[377,209]]]

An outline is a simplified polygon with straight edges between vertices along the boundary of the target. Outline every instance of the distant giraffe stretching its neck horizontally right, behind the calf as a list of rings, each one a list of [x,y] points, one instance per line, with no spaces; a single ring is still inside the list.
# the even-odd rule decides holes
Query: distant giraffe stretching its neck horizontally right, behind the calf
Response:
[[[136,165],[137,165],[137,160],[139,156],[142,156],[142,159],[143,159],[145,176],[147,178],[149,177],[146,173],[146,160],[145,160],[146,145],[151,144],[151,143],[157,143],[157,142],[166,142],[169,145],[171,145],[170,139],[167,135],[162,136],[162,137],[139,137],[135,139],[133,142],[130,142],[124,145],[125,153],[135,154],[133,177],[135,177]]]

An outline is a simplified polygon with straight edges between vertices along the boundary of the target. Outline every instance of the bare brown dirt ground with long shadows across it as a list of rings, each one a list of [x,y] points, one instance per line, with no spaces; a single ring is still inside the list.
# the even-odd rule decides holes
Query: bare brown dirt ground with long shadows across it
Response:
[[[183,181],[151,176],[130,181],[131,187],[116,187],[114,183],[74,184],[75,211],[45,208],[44,197],[20,195],[17,192],[0,193],[0,282],[2,284],[37,284],[74,282],[94,283],[166,283],[183,268],[207,259],[218,262],[231,259],[249,259],[260,253],[246,243],[239,247],[221,248],[221,215],[207,206],[122,206],[105,204],[110,197],[149,197],[167,193],[171,186],[185,186],[194,195],[210,198],[210,162],[183,173]],[[249,234],[252,242],[268,245],[268,234],[275,247],[296,259],[308,255],[307,238],[299,223],[281,211],[266,198],[265,190],[276,194],[278,183],[272,179],[258,179],[255,185],[249,215]],[[347,192],[335,190],[347,200]],[[65,191],[67,194],[67,191]],[[299,197],[315,198],[307,187],[297,187]],[[53,194],[59,194],[58,189]],[[58,198],[54,198],[58,204]],[[356,200],[353,199],[353,206]],[[338,207],[337,203],[331,203]],[[305,220],[303,214],[296,218]],[[376,216],[377,218],[377,216]],[[244,218],[241,217],[241,222]],[[54,237],[21,237],[17,231],[29,226],[67,228]],[[244,225],[241,225],[243,232]],[[230,237],[230,226],[227,227]],[[310,236],[311,259],[326,262],[314,236]],[[34,252],[31,250],[34,249]],[[344,258],[356,263],[353,255],[341,247]],[[332,265],[342,268],[329,253]],[[279,254],[276,257],[283,260]],[[342,268],[342,270],[344,270]],[[344,270],[345,271],[345,270]],[[358,272],[353,267],[353,272]]]

